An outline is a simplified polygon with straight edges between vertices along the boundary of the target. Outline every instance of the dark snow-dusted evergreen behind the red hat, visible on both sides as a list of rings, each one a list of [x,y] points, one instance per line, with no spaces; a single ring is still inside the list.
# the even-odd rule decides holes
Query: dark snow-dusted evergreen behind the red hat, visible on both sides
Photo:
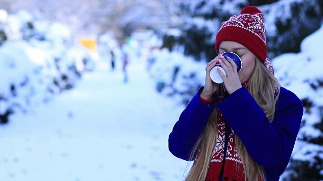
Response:
[[[221,23],[239,14],[245,6],[258,6],[264,14],[270,58],[285,52],[299,52],[302,39],[317,30],[323,21],[320,0],[184,2],[178,13],[185,22],[178,27],[183,33],[173,41],[184,45],[186,55],[209,61],[216,55],[214,44]],[[165,36],[169,37],[167,33]]]

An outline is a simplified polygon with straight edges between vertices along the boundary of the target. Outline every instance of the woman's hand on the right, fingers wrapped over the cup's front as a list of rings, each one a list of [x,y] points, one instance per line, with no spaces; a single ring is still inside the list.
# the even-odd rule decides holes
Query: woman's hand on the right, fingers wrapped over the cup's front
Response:
[[[226,72],[226,75],[222,73],[222,71],[218,68],[218,73],[224,81],[224,85],[227,88],[229,94],[237,91],[239,88],[242,87],[239,75],[238,75],[238,68],[237,64],[230,58],[228,58],[228,62],[224,56],[221,56],[221,60],[219,63],[221,64],[222,68]]]

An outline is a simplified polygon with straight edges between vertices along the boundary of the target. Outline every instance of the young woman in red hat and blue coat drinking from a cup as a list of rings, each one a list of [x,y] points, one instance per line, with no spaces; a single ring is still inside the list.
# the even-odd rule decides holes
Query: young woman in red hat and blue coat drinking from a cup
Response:
[[[186,179],[279,180],[289,162],[303,106],[281,87],[267,57],[262,13],[246,7],[222,23],[219,54],[207,63],[205,84],[182,112],[169,136],[169,149],[194,163]],[[222,53],[239,55],[242,69]],[[220,63],[223,83],[210,79]]]

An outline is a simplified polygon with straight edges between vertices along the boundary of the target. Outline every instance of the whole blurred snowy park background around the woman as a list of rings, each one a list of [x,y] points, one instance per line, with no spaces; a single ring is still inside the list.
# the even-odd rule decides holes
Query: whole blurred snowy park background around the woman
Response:
[[[0,3],[1,181],[182,180],[168,135],[221,22],[248,5],[265,15],[275,76],[304,106],[281,180],[323,180],[323,1]]]

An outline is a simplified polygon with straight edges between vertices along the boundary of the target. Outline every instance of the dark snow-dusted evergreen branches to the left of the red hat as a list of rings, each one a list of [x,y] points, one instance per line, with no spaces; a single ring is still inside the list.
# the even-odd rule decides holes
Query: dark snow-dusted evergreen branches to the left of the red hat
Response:
[[[180,3],[178,6],[181,11],[178,14],[185,24],[177,28],[181,29],[182,34],[178,37],[169,35],[168,32],[161,32],[161,34],[165,34],[166,40],[174,37],[174,42],[185,47],[185,55],[193,55],[197,61],[210,60],[216,56],[214,45],[221,22],[237,14],[245,5],[247,1],[244,0],[199,0]]]

